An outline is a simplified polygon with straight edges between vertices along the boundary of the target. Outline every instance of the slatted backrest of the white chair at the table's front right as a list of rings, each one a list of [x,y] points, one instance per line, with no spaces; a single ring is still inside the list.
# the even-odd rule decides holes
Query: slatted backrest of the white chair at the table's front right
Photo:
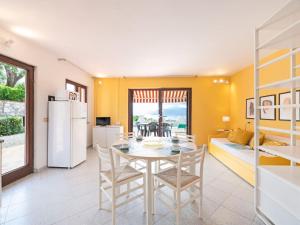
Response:
[[[202,147],[194,151],[180,153],[178,164],[177,164],[177,188],[181,187],[180,184],[181,184],[182,170],[186,170],[186,168],[190,168],[192,165],[195,166],[196,168],[196,165],[199,164],[198,175],[202,179],[204,157],[205,157],[205,145],[203,145]]]

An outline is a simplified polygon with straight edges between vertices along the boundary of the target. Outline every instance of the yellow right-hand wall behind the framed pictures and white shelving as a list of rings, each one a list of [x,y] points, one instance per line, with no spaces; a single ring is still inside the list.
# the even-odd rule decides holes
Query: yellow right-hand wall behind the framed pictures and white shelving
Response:
[[[265,58],[270,60],[274,57],[282,55],[286,51],[280,51],[275,54],[270,55]],[[297,60],[299,61],[299,60]],[[298,62],[299,63],[299,62]],[[269,66],[261,71],[260,74],[260,85],[275,82],[282,79],[289,78],[290,70],[290,59],[287,58],[282,60],[272,66]],[[253,120],[246,120],[246,99],[254,97],[254,71],[253,65],[246,67],[245,69],[237,72],[231,77],[230,85],[230,114],[231,114],[231,126],[232,128],[245,128],[247,122],[250,122],[250,125],[247,125],[247,128],[253,129]],[[276,94],[276,102],[279,104],[278,93],[287,92],[288,89],[277,89],[277,90],[267,90],[262,91],[261,95]],[[283,129],[288,129],[290,123],[287,121],[279,121],[278,110],[276,111],[276,121],[261,121],[263,126],[272,126]]]

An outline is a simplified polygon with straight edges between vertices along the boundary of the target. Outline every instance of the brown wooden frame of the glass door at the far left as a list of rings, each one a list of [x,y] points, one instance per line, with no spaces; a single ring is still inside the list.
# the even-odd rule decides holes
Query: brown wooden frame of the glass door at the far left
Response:
[[[0,54],[0,61],[25,69],[26,73],[26,116],[25,116],[25,162],[26,164],[2,175],[2,186],[8,185],[33,173],[34,160],[34,67]],[[1,139],[1,137],[0,137]]]

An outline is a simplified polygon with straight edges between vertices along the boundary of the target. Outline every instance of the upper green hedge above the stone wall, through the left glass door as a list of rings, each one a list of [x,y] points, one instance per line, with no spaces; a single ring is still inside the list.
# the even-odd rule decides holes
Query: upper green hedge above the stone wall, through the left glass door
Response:
[[[24,102],[25,87],[19,84],[16,87],[8,87],[0,84],[0,100]]]

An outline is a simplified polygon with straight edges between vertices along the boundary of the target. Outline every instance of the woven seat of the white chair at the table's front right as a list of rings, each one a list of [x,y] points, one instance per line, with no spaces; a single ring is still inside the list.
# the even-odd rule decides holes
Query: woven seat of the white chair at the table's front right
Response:
[[[177,188],[177,168],[171,168],[162,171],[155,176],[167,182],[174,188]],[[181,170],[181,187],[185,187],[186,185],[191,184],[197,180],[200,180],[200,177]]]

